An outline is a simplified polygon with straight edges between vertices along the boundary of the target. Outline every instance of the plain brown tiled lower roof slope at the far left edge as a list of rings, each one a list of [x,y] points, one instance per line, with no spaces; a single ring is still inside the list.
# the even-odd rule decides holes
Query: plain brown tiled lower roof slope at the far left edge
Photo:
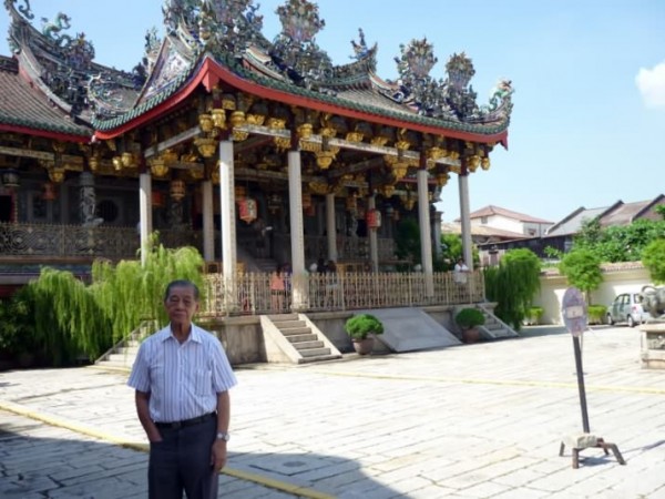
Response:
[[[19,75],[16,60],[0,57],[0,130],[30,129],[43,133],[90,138],[92,129],[48,102]]]

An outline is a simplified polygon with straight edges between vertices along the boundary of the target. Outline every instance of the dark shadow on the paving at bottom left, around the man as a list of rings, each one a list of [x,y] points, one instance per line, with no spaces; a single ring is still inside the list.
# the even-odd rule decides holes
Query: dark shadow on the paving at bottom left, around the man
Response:
[[[8,417],[6,417],[8,416]],[[2,413],[0,497],[3,499],[144,499],[147,454],[88,439],[66,429],[62,438],[40,421]],[[364,475],[360,466],[334,456],[234,454],[223,473],[218,497],[393,497],[393,491]],[[254,478],[238,478],[238,475]],[[317,482],[317,483],[315,483]],[[268,487],[267,485],[270,485]],[[315,487],[316,485],[316,487]]]

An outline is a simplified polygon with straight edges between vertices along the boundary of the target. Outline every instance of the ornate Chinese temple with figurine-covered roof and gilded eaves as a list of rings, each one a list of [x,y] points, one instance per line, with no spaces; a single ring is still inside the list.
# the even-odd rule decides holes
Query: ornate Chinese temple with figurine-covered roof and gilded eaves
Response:
[[[12,54],[0,57],[0,264],[89,265],[135,258],[150,235],[200,248],[233,286],[238,269],[311,262],[379,272],[396,259],[395,227],[420,227],[426,295],[440,217],[433,203],[460,190],[471,264],[469,175],[507,146],[511,83],[485,103],[474,69],[453,54],[442,78],[431,43],[376,74],[378,47],[362,30],[352,62],[316,43],[316,4],[287,0],[280,33],[262,34],[252,0],[166,0],[131,72],[95,61],[85,27],[35,19],[4,0]],[[464,230],[466,227],[466,230]],[[8,271],[9,269],[9,271]]]

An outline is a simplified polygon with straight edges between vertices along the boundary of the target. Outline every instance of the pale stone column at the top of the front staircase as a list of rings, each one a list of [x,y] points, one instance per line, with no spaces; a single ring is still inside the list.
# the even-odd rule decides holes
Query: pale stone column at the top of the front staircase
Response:
[[[303,228],[303,180],[300,152],[288,152],[288,204],[291,236],[291,308],[307,308],[307,279],[305,274],[305,234]]]

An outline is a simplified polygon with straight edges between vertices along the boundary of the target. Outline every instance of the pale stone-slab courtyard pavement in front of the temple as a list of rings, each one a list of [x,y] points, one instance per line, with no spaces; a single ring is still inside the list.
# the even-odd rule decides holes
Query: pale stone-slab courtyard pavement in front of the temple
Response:
[[[573,342],[516,339],[305,366],[244,366],[232,390],[224,498],[665,498],[665,371],[640,334],[584,334],[591,430],[582,432]],[[145,437],[126,373],[0,373],[1,498],[145,498]]]

